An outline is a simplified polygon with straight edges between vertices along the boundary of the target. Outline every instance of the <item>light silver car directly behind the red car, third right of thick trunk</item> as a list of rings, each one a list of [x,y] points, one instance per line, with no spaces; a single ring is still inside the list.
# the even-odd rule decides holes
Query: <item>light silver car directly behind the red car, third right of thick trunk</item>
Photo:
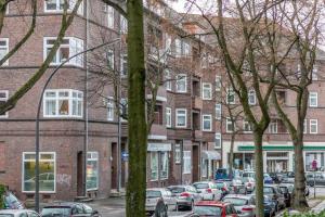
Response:
[[[193,186],[200,193],[203,200],[220,200],[222,197],[222,191],[217,188],[217,184],[212,181],[195,182]]]

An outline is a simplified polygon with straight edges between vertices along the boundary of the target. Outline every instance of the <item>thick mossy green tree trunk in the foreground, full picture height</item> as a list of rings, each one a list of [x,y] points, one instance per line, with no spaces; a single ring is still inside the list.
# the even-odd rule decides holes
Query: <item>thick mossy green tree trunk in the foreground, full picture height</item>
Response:
[[[145,216],[146,118],[142,0],[128,0],[128,136],[127,217]],[[119,156],[120,157],[120,156]]]

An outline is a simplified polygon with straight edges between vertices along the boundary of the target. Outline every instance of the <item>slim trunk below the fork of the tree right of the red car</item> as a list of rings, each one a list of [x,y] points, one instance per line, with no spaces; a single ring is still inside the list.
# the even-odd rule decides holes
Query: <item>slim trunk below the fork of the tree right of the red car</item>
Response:
[[[256,216],[264,217],[264,199],[263,199],[263,133],[255,132],[255,171],[256,171]]]

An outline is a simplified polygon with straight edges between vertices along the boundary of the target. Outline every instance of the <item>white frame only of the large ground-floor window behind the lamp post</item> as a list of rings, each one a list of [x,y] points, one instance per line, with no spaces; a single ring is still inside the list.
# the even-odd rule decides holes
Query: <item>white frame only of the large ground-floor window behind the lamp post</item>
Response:
[[[25,184],[24,184],[24,178],[25,178],[25,162],[36,162],[36,159],[25,159],[25,155],[27,154],[34,154],[36,156],[35,152],[23,152],[22,156],[22,192],[23,193],[35,193],[35,191],[25,191]],[[53,159],[42,159],[42,154],[51,154],[53,155]],[[54,191],[40,191],[40,193],[56,193],[56,152],[40,152],[39,153],[39,162],[54,162]]]

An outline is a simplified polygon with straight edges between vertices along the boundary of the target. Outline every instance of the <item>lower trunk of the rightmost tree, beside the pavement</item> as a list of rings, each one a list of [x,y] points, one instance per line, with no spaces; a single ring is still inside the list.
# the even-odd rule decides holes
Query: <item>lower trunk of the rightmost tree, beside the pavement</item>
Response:
[[[306,190],[306,177],[304,177],[304,162],[303,162],[303,141],[302,139],[294,140],[295,146],[295,192],[292,207],[303,210],[309,207],[304,190]]]

